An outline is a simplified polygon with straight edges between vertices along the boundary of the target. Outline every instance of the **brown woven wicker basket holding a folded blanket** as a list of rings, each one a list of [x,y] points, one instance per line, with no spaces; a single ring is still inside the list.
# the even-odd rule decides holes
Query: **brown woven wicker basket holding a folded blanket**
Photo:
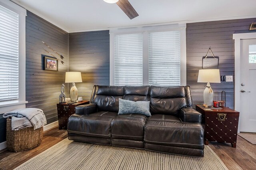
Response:
[[[41,144],[43,138],[43,127],[34,130],[34,127],[12,130],[12,119],[6,122],[6,144],[7,149],[20,152],[32,149]]]

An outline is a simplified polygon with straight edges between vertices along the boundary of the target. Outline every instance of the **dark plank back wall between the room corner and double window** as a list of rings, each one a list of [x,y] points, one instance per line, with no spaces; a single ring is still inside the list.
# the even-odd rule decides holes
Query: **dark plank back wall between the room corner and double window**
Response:
[[[69,35],[69,71],[80,71],[78,97],[89,100],[93,85],[109,85],[109,31]],[[71,85],[71,83],[70,83]]]

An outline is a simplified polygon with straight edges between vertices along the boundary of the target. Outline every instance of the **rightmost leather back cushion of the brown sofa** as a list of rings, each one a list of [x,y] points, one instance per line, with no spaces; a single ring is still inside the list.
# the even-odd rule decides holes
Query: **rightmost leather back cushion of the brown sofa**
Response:
[[[179,115],[182,107],[186,107],[186,91],[179,87],[150,87],[150,113],[164,115]]]

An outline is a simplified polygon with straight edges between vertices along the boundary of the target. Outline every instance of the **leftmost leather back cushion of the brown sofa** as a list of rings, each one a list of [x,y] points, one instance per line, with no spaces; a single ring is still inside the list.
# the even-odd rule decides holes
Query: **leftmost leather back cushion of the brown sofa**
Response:
[[[96,104],[98,111],[118,112],[119,98],[123,99],[123,86],[94,85],[91,101]]]

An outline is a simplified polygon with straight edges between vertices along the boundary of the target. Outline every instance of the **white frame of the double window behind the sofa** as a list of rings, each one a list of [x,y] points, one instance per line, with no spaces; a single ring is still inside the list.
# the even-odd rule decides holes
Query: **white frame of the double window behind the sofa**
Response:
[[[114,38],[121,34],[142,34],[143,85],[148,85],[148,35],[150,32],[180,31],[180,85],[186,85],[186,24],[140,26],[110,30],[110,85],[114,85]]]

